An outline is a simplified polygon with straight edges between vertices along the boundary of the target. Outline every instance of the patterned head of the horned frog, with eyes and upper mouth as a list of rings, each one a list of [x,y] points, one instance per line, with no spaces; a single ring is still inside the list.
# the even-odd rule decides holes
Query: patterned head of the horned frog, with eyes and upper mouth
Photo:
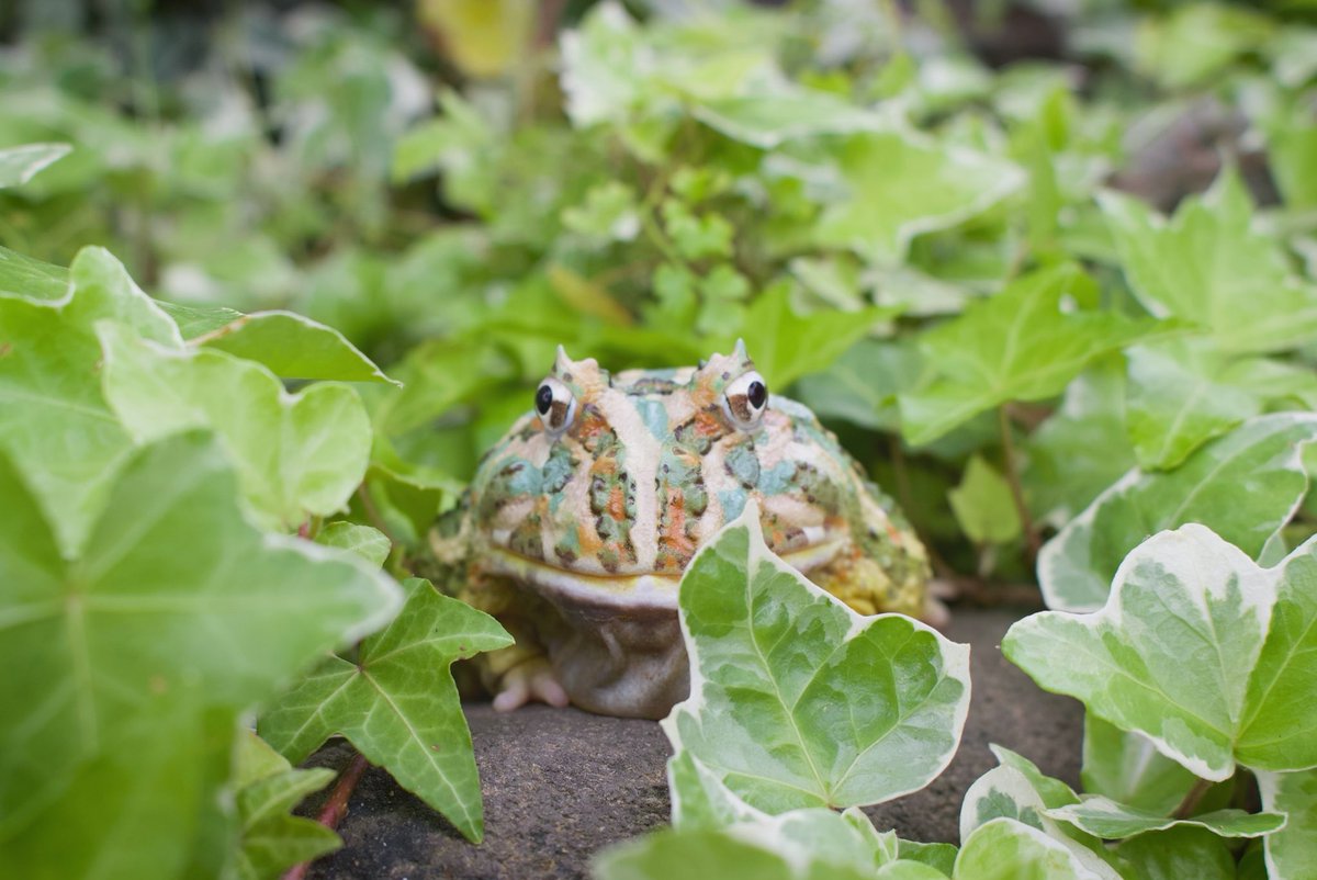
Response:
[[[741,343],[697,368],[616,375],[560,348],[533,410],[482,460],[469,527],[491,573],[672,606],[695,551],[751,497],[769,547],[803,570],[874,505],[836,439],[769,395]]]

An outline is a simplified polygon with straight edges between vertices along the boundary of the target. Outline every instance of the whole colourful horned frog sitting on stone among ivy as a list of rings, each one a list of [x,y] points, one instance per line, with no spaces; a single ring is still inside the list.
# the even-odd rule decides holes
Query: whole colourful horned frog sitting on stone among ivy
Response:
[[[461,598],[516,639],[481,668],[495,709],[665,715],[689,689],[681,573],[751,498],[769,548],[815,584],[861,614],[921,615],[923,545],[810,410],[769,397],[741,343],[616,375],[558,348],[456,532],[431,535]]]

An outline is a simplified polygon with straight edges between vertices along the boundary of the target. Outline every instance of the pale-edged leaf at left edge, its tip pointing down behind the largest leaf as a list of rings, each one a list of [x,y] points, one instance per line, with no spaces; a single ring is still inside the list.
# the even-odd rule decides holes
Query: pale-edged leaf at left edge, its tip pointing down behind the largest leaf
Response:
[[[33,295],[0,296],[0,448],[30,481],[62,552],[71,557],[132,452],[101,395],[94,324],[122,321],[165,345],[182,340],[103,249],[78,254],[55,299],[49,296],[55,277],[41,269],[45,263],[5,254],[4,266],[16,263],[22,270],[18,281],[38,283]]]

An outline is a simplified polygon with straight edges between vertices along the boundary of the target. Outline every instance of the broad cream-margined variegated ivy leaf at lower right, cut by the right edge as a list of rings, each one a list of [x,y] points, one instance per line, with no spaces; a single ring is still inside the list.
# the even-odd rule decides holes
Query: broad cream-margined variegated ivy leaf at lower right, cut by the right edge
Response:
[[[1305,697],[1317,674],[1314,582],[1314,541],[1262,569],[1204,526],[1183,526],[1126,557],[1100,611],[1035,614],[1002,652],[1202,779],[1229,779],[1237,764],[1303,769],[1317,765],[1317,705]]]

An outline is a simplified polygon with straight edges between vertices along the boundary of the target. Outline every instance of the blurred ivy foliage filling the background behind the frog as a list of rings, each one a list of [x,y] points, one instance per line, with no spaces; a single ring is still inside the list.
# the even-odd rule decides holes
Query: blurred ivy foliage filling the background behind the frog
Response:
[[[404,540],[557,344],[623,369],[743,336],[952,569],[1022,577],[1038,531],[1129,465],[1310,398],[1313,21],[1151,0],[21,3],[0,17],[0,148],[74,150],[0,192],[0,242],[59,265],[103,244],[163,299],[341,331],[406,385],[366,393],[367,497]],[[1229,198],[1160,229],[1222,162]],[[1210,306],[1185,283],[1209,260]],[[1035,270],[1071,281],[1039,294]],[[1148,336],[1148,316],[1172,320]],[[1200,325],[1212,352],[1159,341]],[[1158,375],[1229,394],[1177,419]]]

